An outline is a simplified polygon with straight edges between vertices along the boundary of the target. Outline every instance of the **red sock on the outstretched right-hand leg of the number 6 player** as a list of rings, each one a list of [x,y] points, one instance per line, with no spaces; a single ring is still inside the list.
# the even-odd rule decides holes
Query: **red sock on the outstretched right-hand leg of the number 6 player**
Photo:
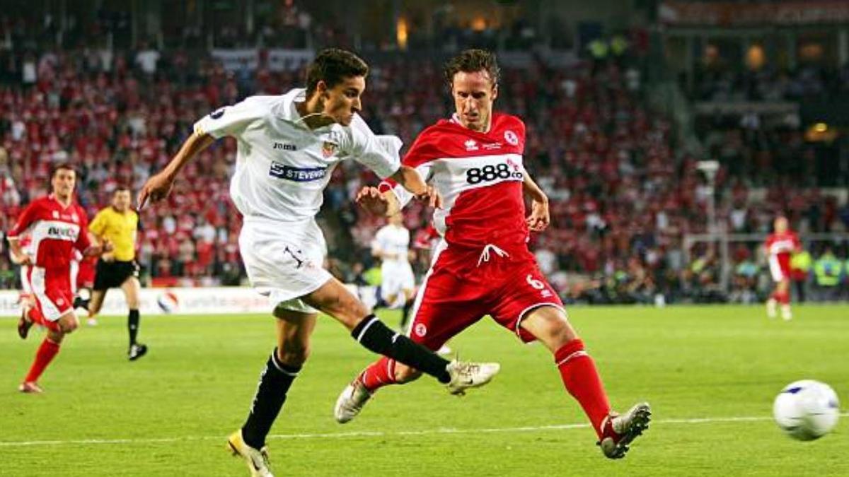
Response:
[[[601,422],[610,413],[610,401],[604,393],[599,371],[582,340],[571,340],[554,353],[554,362],[569,394],[575,397],[587,413],[596,434],[601,435]]]

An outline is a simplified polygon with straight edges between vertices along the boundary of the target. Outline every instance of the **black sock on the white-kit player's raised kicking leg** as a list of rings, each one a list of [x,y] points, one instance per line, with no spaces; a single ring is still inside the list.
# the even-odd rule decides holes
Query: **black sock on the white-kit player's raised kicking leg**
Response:
[[[368,351],[374,351],[397,362],[428,373],[440,383],[451,380],[446,367],[448,361],[433,351],[410,340],[403,334],[396,333],[386,327],[377,317],[368,315],[351,331],[354,340],[359,341]]]

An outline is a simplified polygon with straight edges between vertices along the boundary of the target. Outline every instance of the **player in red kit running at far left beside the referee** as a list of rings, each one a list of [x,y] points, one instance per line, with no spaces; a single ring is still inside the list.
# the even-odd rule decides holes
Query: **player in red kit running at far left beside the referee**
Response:
[[[76,171],[67,165],[56,166],[50,184],[53,193],[33,200],[8,233],[13,260],[26,267],[25,280],[36,305],[22,314],[18,333],[25,338],[32,323],[48,328],[30,371],[18,388],[25,393],[42,392],[38,378],[59,353],[65,334],[79,324],[70,283],[72,249],[82,250],[84,255],[103,251],[89,242],[86,211],[74,200]],[[29,250],[24,250],[20,236],[27,233],[31,245]]]

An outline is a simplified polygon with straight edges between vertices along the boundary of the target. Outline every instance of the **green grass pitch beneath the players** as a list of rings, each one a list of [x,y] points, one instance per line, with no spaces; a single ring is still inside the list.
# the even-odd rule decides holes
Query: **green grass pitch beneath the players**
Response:
[[[647,400],[648,432],[624,460],[602,457],[548,351],[488,320],[450,345],[494,360],[488,387],[449,396],[432,379],[381,390],[349,424],[332,408],[372,355],[329,317],[268,444],[278,475],[849,475],[849,418],[818,441],[773,424],[784,384],[819,379],[849,403],[849,306],[571,309],[614,407]],[[383,314],[396,324],[398,315]],[[127,362],[126,318],[66,340],[42,376],[16,387],[42,334],[0,320],[0,475],[247,475],[225,452],[274,343],[273,318],[149,317],[149,355]],[[577,425],[572,425],[577,424]]]

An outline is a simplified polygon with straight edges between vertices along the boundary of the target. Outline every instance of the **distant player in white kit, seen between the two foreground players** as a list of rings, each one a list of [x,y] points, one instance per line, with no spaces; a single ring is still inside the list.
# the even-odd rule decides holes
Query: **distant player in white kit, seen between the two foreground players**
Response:
[[[410,266],[410,231],[401,212],[389,216],[372,242],[372,255],[380,258],[380,297],[389,308],[401,308],[413,299],[416,280]]]

